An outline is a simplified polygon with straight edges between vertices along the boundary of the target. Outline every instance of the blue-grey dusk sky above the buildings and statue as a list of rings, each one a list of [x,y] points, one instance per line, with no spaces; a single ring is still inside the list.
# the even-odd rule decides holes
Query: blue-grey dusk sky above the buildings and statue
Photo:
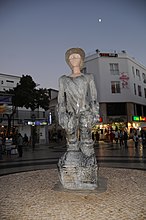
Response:
[[[146,66],[146,1],[0,0],[0,73],[58,89],[58,78],[71,71],[71,47],[126,50]]]

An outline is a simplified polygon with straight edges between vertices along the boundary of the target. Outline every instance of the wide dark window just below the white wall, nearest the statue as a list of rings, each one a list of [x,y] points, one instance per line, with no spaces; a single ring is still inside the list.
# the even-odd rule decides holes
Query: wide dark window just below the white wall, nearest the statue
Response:
[[[126,115],[126,103],[107,103],[107,116]]]

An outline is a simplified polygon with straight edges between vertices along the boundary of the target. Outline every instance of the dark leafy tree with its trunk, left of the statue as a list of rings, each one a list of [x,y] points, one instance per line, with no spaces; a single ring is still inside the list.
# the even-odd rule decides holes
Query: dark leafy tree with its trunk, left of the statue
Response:
[[[12,95],[12,113],[5,114],[8,119],[8,135],[11,129],[11,121],[16,112],[17,107],[30,108],[34,111],[39,106],[44,110],[49,107],[49,91],[47,89],[36,89],[37,84],[29,75],[22,75],[20,82],[16,87],[6,91]]]

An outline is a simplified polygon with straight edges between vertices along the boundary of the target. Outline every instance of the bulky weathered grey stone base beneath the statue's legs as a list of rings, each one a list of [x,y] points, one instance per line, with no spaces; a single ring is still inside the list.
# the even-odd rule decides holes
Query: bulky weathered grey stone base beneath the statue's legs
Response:
[[[81,151],[67,151],[58,163],[60,182],[66,189],[94,190],[97,188],[95,155],[85,156]]]

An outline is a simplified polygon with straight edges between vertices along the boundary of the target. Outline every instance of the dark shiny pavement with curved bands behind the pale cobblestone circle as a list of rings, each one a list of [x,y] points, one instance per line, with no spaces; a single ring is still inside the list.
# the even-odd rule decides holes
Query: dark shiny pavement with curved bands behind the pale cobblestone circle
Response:
[[[52,143],[37,146],[35,151],[24,149],[23,157],[18,155],[0,160],[0,175],[23,172],[28,170],[56,168],[58,159],[66,151],[63,144]],[[132,168],[146,170],[146,147],[141,145],[135,149],[133,141],[128,141],[128,148],[119,144],[110,145],[100,141],[95,145],[95,153],[100,167]]]

